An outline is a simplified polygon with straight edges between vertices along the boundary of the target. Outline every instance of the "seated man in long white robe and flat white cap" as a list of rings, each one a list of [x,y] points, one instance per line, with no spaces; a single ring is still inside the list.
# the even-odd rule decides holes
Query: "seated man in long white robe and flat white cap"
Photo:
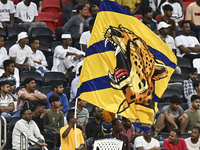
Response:
[[[77,64],[83,60],[85,52],[71,47],[70,34],[62,34],[62,45],[55,48],[53,55],[53,67],[51,71],[63,72],[68,77],[69,72],[75,72]]]

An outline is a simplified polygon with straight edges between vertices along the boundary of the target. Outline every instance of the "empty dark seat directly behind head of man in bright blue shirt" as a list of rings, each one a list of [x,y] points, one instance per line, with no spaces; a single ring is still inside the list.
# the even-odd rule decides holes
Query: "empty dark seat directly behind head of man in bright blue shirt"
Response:
[[[54,81],[62,81],[63,87],[67,86],[66,77],[62,72],[46,72],[44,74],[45,85],[51,85]]]

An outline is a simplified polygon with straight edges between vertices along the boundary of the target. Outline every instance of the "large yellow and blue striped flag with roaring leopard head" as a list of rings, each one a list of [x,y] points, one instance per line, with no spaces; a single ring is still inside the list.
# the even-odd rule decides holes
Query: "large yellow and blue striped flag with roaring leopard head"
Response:
[[[177,59],[141,21],[114,1],[101,2],[77,96],[148,131]]]

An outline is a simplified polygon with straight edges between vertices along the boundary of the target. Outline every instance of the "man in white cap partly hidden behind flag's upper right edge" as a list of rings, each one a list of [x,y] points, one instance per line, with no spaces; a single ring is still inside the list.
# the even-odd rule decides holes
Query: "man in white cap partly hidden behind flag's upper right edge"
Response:
[[[164,21],[161,21],[158,24],[158,31],[159,31],[159,37],[170,47],[170,49],[175,53],[176,51],[176,46],[174,42],[174,38],[169,35],[169,27],[171,25],[167,24]]]

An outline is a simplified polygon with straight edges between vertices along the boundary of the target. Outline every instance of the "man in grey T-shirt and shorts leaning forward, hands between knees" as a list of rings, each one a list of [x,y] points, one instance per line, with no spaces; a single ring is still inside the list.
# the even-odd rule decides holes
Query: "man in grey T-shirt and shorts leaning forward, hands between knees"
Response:
[[[165,124],[169,132],[171,132],[173,128],[178,129],[178,124],[180,124],[181,132],[185,133],[185,128],[188,123],[188,116],[184,113],[184,110],[181,108],[181,106],[179,106],[181,103],[181,98],[173,95],[170,99],[170,105],[164,106],[161,110],[161,113],[164,114],[166,122]]]

